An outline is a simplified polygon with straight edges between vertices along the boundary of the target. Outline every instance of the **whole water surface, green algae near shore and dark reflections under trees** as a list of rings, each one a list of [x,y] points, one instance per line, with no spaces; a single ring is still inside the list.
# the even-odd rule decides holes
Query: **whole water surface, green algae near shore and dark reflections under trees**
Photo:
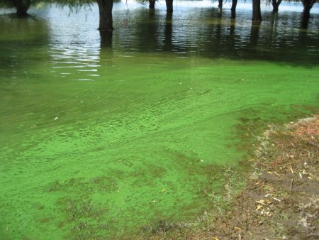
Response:
[[[0,16],[0,239],[194,220],[221,166],[245,175],[255,130],[318,111],[318,15],[300,30],[292,12],[254,28],[245,9],[114,11],[112,39],[96,9]]]

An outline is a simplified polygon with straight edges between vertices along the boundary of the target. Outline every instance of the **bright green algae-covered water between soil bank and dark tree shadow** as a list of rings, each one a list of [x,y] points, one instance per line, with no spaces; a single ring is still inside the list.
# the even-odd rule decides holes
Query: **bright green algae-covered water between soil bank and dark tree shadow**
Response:
[[[222,194],[219,166],[245,175],[258,129],[319,107],[318,66],[77,46],[58,58],[47,26],[26,25],[0,37],[1,239],[195,220]]]

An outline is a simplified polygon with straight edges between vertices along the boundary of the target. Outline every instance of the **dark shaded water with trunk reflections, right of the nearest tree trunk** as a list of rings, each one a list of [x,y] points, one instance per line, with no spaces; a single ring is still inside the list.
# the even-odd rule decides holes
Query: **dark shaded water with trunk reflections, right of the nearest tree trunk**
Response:
[[[194,9],[184,18],[177,13],[147,13],[148,9],[136,10],[134,26],[118,29],[116,34],[130,35],[124,48],[135,44],[144,52],[164,50],[183,53],[185,57],[269,60],[308,67],[319,63],[317,56],[310,53],[309,57],[308,52],[310,48],[319,48],[315,14],[308,28],[308,21],[296,12],[265,12],[264,21],[259,24],[244,21],[239,13],[236,17],[217,8]]]

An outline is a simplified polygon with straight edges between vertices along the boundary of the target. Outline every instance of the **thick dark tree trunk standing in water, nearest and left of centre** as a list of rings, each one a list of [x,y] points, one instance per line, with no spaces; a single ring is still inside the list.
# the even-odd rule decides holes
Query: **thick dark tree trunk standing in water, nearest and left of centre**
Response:
[[[96,0],[96,2],[100,13],[99,31],[113,31],[113,0]]]

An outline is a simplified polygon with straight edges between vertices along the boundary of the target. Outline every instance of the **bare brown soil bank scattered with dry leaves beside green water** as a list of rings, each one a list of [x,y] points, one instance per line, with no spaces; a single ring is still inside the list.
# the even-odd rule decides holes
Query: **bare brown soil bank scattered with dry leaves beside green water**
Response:
[[[247,185],[201,231],[159,222],[143,239],[319,239],[319,115],[259,139]]]

